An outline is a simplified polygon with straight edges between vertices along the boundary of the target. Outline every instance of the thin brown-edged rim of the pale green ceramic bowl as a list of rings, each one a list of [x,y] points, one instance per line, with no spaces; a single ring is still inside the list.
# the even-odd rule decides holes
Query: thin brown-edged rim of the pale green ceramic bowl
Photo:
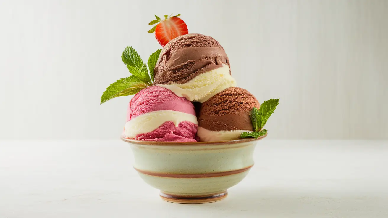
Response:
[[[201,146],[201,145],[232,145],[242,142],[258,141],[267,137],[268,133],[260,136],[258,138],[244,138],[244,139],[235,139],[235,140],[226,140],[226,141],[196,141],[196,142],[168,142],[168,141],[143,141],[143,140],[134,140],[130,138],[124,138],[121,136],[121,140],[138,144],[138,145],[158,145],[158,146],[182,146],[182,145],[191,145],[191,146]]]

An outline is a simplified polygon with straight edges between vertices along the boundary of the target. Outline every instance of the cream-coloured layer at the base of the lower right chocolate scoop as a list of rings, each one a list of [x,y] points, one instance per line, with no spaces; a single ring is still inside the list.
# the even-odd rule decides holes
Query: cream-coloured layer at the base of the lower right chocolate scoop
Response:
[[[239,139],[242,132],[251,133],[248,130],[223,130],[223,131],[210,131],[203,127],[198,127],[197,136],[200,141],[225,141]]]

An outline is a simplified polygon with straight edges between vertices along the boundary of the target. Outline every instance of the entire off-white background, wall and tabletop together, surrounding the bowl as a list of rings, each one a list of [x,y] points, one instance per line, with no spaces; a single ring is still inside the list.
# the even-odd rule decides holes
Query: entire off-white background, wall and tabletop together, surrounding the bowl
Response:
[[[374,140],[388,139],[387,11],[385,0],[0,0],[0,218],[388,217],[388,141]],[[130,97],[99,105],[128,76],[123,49],[147,59],[161,48],[147,23],[171,13],[220,42],[240,87],[281,99],[255,166],[220,202],[159,199],[118,139]]]

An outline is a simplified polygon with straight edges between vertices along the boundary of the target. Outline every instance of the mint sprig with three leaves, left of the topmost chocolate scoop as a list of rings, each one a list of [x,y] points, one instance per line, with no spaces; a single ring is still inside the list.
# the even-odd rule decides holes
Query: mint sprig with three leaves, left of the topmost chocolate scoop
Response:
[[[135,49],[131,46],[126,47],[121,59],[123,59],[123,62],[132,75],[127,78],[116,80],[116,82],[109,85],[109,87],[106,88],[106,91],[102,93],[100,104],[119,96],[136,94],[140,90],[151,86],[154,81],[154,68],[160,52],[161,49],[152,53],[148,58],[150,72],[148,73],[147,65],[143,62]]]

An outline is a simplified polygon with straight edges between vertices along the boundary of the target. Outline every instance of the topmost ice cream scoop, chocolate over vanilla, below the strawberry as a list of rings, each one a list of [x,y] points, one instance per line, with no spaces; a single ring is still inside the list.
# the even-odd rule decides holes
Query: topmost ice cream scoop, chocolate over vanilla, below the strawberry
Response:
[[[163,47],[154,78],[154,84],[199,102],[236,86],[223,47],[214,38],[196,33],[174,38]]]

